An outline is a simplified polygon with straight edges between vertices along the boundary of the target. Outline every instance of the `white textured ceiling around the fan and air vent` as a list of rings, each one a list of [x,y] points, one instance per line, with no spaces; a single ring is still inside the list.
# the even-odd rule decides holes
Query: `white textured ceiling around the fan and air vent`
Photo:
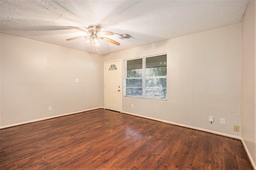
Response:
[[[0,0],[0,31],[104,55],[240,23],[248,0]],[[100,41],[98,51],[84,32],[94,24],[121,45]],[[130,39],[118,38],[129,34]]]

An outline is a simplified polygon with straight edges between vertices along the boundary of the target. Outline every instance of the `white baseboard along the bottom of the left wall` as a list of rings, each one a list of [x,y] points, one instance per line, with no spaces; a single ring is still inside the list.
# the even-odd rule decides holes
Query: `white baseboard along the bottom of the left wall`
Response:
[[[3,126],[3,127],[0,127],[0,129],[8,128],[8,127],[14,127],[14,126],[18,126],[18,125],[24,125],[26,123],[33,123],[33,122],[38,122],[38,121],[44,121],[44,120],[47,120],[47,119],[52,119],[52,118],[56,118],[56,117],[62,117],[62,116],[66,116],[66,115],[72,115],[72,114],[86,112],[86,111],[92,111],[92,110],[96,110],[96,109],[104,109],[104,107],[96,107],[96,108],[82,110],[82,111],[76,111],[76,112],[72,112],[72,113],[65,113],[65,114],[62,114],[62,115],[56,115],[56,116],[51,116],[51,117],[44,117],[44,118],[41,118],[41,119],[35,119],[35,120],[31,120],[31,121],[26,121],[26,122],[15,123],[15,124],[12,124],[12,125],[6,125],[6,126]]]

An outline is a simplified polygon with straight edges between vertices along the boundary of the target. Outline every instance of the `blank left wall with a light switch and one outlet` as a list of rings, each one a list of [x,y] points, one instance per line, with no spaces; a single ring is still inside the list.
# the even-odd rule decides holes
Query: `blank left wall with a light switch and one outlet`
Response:
[[[102,56],[6,34],[0,38],[0,127],[103,106]]]

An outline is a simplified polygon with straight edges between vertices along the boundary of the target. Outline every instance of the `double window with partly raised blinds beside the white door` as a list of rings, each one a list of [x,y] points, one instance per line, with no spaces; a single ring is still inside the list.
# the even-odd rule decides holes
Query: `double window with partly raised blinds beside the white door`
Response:
[[[124,61],[124,95],[150,99],[167,99],[167,55],[155,55]]]

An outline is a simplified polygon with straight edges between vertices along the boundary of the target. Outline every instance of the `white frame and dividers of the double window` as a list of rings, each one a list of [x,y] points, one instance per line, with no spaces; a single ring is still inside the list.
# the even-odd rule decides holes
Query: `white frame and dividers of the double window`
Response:
[[[148,77],[146,77],[146,58],[156,57],[156,56],[161,56],[161,55],[166,55],[166,76],[148,76]],[[142,59],[142,77],[127,77],[127,61],[135,60],[135,59]],[[158,79],[165,78],[166,79],[166,88],[161,88],[161,89],[166,89],[166,99],[146,97],[146,89],[154,89],[154,87],[153,88],[146,87],[146,79],[153,79],[153,78],[158,78]],[[127,88],[136,88],[136,89],[142,88],[142,96],[126,95],[126,79],[142,79],[142,87],[127,87]],[[155,88],[157,88],[157,87],[155,87]],[[124,97],[136,97],[136,98],[143,98],[143,99],[155,99],[155,100],[167,101],[167,53],[124,60]]]

